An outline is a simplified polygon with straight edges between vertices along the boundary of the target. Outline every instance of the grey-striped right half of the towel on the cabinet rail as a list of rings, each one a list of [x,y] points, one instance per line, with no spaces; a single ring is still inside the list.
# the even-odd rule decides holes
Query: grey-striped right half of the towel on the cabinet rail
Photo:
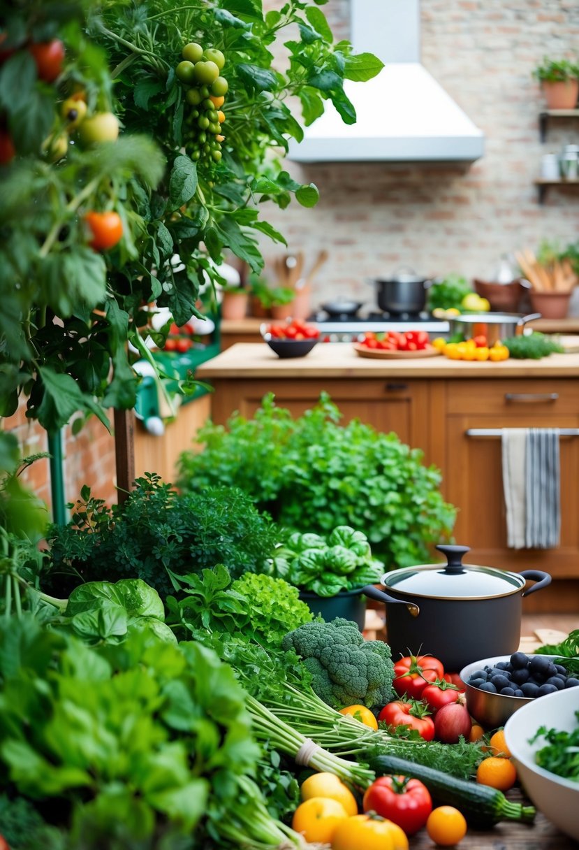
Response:
[[[554,549],[561,530],[559,428],[529,428],[526,435],[528,549]]]

